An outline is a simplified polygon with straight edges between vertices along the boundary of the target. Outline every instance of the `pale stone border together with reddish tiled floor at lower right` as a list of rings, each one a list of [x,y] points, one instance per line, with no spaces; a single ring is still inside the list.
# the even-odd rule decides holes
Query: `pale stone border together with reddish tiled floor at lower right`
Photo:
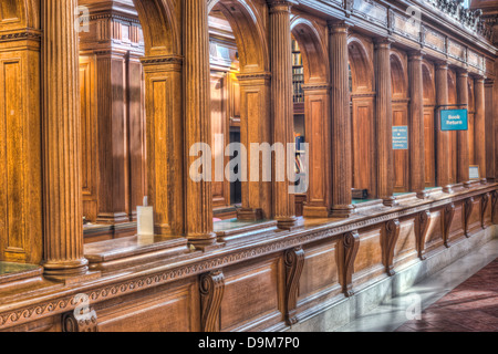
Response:
[[[498,240],[338,331],[498,332]]]

